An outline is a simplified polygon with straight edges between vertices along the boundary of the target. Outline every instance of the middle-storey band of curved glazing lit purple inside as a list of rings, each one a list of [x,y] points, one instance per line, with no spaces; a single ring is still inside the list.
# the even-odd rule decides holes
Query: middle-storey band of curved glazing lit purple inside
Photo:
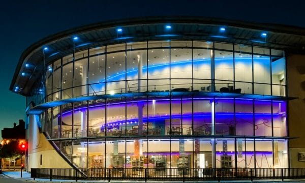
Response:
[[[286,102],[223,98],[115,98],[48,110],[52,138],[104,136],[286,137]]]

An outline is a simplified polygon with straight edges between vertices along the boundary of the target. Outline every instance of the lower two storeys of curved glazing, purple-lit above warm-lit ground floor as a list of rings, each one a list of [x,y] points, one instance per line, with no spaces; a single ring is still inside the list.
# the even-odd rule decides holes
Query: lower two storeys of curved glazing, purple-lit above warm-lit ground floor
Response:
[[[45,131],[81,168],[288,167],[285,101],[113,98],[46,116]]]

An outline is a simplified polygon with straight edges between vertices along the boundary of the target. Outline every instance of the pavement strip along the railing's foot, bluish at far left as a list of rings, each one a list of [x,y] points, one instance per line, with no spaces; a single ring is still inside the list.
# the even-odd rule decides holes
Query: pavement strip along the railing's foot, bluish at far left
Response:
[[[27,182],[50,182],[50,179],[41,179],[41,178],[36,178],[35,180],[31,178],[31,173],[22,172],[22,178],[20,177],[20,170],[19,171],[8,171],[8,170],[3,170],[3,174],[10,177],[10,178],[15,178],[18,180],[22,181],[27,181]],[[62,182],[62,183],[68,183],[68,182],[75,182],[75,180],[62,180],[62,179],[52,179],[51,182]],[[93,182],[108,182],[108,180],[78,180],[77,182],[79,183],[93,183]],[[144,182],[144,181],[136,181],[136,180],[111,180],[110,182]],[[147,182],[179,182],[181,183],[182,181],[147,181]],[[215,180],[205,180],[205,181],[186,181],[186,182],[218,182]],[[228,182],[228,183],[237,183],[237,182],[251,182],[250,180],[222,180],[220,182]],[[282,182],[282,180],[276,179],[276,180],[253,180],[253,182],[259,182],[259,183],[264,183],[264,182]],[[284,182],[305,182],[305,179],[284,179]]]

